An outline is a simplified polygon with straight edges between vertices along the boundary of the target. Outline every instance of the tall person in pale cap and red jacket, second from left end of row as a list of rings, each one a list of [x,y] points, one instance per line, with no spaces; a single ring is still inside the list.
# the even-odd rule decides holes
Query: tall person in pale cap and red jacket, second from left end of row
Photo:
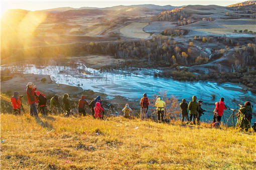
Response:
[[[30,104],[30,115],[31,116],[38,116],[37,113],[37,105],[36,105],[36,101],[37,101],[37,94],[35,93],[35,91],[37,90],[37,86],[34,85],[32,82],[28,82],[27,84],[27,97],[28,97],[28,102]]]

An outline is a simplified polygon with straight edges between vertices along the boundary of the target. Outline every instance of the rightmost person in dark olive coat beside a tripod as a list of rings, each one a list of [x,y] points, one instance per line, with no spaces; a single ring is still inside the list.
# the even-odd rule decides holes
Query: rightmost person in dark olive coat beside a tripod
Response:
[[[250,121],[252,118],[252,107],[249,101],[246,101],[244,105],[240,106],[241,107],[238,110],[236,126],[248,131],[248,129],[250,128]]]

